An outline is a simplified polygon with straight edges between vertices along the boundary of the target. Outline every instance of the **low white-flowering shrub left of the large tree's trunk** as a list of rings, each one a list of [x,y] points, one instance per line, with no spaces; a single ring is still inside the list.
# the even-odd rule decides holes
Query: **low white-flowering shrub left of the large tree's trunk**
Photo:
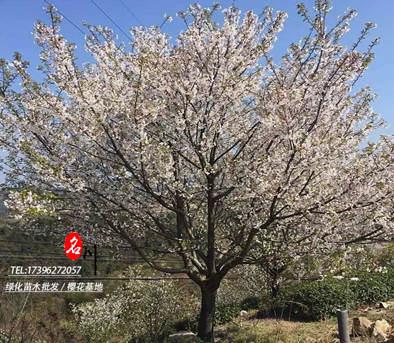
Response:
[[[142,274],[138,268],[128,273],[133,277]],[[176,280],[130,280],[102,299],[72,304],[72,312],[81,329],[97,343],[115,336],[130,342],[162,342],[173,330],[174,321],[197,311],[197,298],[180,288]]]

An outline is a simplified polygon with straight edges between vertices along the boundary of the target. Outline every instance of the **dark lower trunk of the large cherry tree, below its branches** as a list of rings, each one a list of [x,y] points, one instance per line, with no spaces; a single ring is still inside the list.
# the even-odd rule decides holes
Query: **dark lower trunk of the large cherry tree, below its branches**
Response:
[[[198,321],[198,337],[204,342],[213,342],[216,289],[201,285],[201,310]]]

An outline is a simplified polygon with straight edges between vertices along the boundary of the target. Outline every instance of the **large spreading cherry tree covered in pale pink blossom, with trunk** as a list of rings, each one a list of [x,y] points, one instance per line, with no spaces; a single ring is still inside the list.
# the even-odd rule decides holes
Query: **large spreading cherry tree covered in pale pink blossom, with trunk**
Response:
[[[219,25],[219,8],[179,12],[185,30],[175,43],[161,27],[135,27],[128,48],[85,23],[95,62],[81,66],[49,6],[50,25],[34,30],[44,80],[31,78],[20,54],[0,62],[15,216],[62,220],[186,274],[201,289],[198,336],[207,341],[216,291],[233,268],[393,233],[394,140],[368,140],[384,123],[371,89],[354,90],[379,41],[359,51],[374,25],[345,47],[354,10],[327,28],[327,0],[313,15],[300,4],[309,32],[275,65],[269,51],[287,15],[241,16],[231,6]],[[155,254],[177,254],[183,266]]]

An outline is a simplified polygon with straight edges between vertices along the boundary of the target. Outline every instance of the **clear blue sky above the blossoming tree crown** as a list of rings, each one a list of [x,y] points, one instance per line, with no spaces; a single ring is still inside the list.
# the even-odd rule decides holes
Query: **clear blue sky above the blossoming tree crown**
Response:
[[[94,0],[103,11],[122,28],[128,32],[132,26],[140,25],[136,18],[128,12],[120,0]],[[111,27],[119,33],[121,40],[127,38],[112,24],[108,18],[91,2],[91,0],[49,0],[73,23],[81,27],[82,21],[89,24],[100,24]],[[145,25],[160,25],[163,21],[163,14],[172,15],[174,20],[167,23],[163,31],[171,36],[184,28],[181,20],[175,17],[175,13],[184,10],[192,3],[192,0],[171,0],[171,1],[137,1],[123,0],[124,4],[133,11],[138,19]],[[220,2],[222,7],[231,5],[233,0]],[[298,0],[237,0],[236,6],[242,11],[252,9],[259,12],[264,6],[271,6],[274,10],[282,10],[289,14],[284,30],[278,35],[272,54],[278,61],[280,56],[286,53],[286,49],[292,42],[297,42],[307,33],[307,25],[303,23],[301,17],[297,15],[296,5]],[[304,1],[312,11],[313,1]],[[204,7],[210,6],[211,1],[200,1]],[[14,51],[21,52],[23,58],[31,62],[31,72],[36,77],[39,73],[35,67],[39,63],[39,48],[33,42],[31,31],[33,23],[37,19],[47,21],[43,7],[46,3],[43,0],[0,0],[0,57],[12,59]],[[333,10],[331,22],[336,16],[343,13],[347,7],[358,10],[358,16],[352,20],[351,31],[347,33],[344,43],[350,45],[363,28],[363,23],[370,21],[378,24],[373,30],[370,39],[375,36],[381,37],[381,43],[374,52],[376,59],[373,61],[366,74],[360,79],[358,87],[369,85],[373,91],[378,93],[380,99],[373,104],[374,111],[380,113],[382,118],[390,125],[388,130],[380,131],[380,134],[394,134],[394,1],[392,0],[332,0]],[[218,15],[220,20],[220,15]],[[77,44],[77,55],[81,62],[90,60],[89,55],[83,50],[83,34],[73,27],[66,20],[62,24],[62,34],[68,41]],[[368,43],[367,42],[367,43]],[[378,135],[371,138],[376,139]]]

